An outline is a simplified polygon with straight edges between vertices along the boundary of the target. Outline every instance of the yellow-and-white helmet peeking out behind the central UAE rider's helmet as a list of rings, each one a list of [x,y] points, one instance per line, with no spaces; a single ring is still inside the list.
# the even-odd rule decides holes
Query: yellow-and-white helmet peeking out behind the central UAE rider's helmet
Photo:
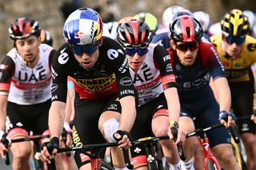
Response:
[[[150,13],[139,13],[134,15],[134,19],[138,19],[141,22],[146,22],[148,26],[150,26],[150,31],[155,32],[158,30],[158,19],[154,17],[153,14]]]

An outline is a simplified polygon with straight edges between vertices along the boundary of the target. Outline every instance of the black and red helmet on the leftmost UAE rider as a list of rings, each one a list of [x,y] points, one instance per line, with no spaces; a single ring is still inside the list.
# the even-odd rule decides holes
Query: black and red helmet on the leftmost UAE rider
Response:
[[[18,18],[9,27],[9,37],[13,40],[27,38],[30,35],[39,36],[41,27],[38,22],[30,18]]]

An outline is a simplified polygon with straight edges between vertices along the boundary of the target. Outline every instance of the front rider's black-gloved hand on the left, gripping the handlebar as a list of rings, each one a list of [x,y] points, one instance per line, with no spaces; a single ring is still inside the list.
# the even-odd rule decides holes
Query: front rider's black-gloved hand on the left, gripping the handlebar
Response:
[[[54,158],[57,154],[57,149],[59,147],[59,139],[58,137],[54,136],[51,138],[49,142],[44,142],[41,146],[41,153],[39,158],[46,162],[47,164],[50,164],[50,160]]]

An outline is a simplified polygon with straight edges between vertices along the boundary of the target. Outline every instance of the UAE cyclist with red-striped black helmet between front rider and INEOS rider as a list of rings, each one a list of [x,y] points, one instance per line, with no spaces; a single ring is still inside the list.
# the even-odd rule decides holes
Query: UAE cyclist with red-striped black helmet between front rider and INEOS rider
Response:
[[[152,136],[152,132],[154,136],[166,135],[168,132],[173,139],[170,127],[178,128],[180,113],[175,77],[166,49],[150,44],[151,39],[152,33],[146,22],[133,19],[118,27],[118,42],[126,50],[130,75],[138,90],[139,107],[131,134],[139,139]],[[185,140],[185,133],[178,134],[176,144],[181,140]],[[171,140],[162,140],[160,143],[168,162],[174,169],[181,169],[181,160],[174,143]],[[147,166],[145,148],[134,145],[131,155],[135,169]]]

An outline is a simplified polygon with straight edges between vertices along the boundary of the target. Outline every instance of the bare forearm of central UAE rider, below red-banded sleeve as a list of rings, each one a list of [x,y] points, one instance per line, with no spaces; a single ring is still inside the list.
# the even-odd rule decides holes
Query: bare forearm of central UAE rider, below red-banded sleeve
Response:
[[[176,88],[169,88],[165,90],[166,101],[168,105],[168,113],[170,121],[177,121],[181,111],[178,91]]]

